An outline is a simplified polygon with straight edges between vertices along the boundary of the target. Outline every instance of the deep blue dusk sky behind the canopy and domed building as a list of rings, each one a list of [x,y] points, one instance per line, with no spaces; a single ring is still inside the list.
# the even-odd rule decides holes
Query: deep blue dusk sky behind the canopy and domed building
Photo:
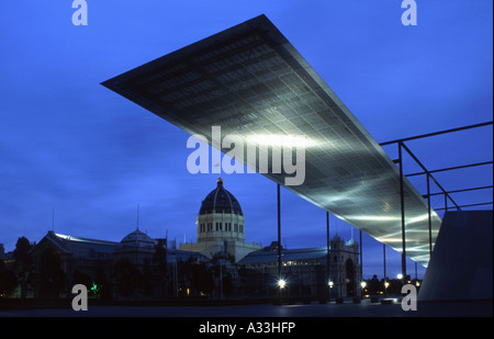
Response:
[[[88,0],[75,26],[71,1],[0,0],[0,242],[55,231],[120,241],[136,228],[195,240],[201,201],[217,174],[190,174],[189,135],[100,83],[266,14],[378,143],[493,118],[493,2],[401,0]],[[492,160],[492,126],[408,143],[428,169]],[[395,147],[384,148],[392,158]],[[405,173],[418,168],[405,162]],[[276,184],[224,174],[240,202],[246,238],[277,239]],[[447,190],[492,185],[492,166],[438,173]],[[411,181],[425,194],[425,178]],[[434,191],[437,191],[433,187]],[[458,193],[459,204],[492,190]],[[326,213],[282,189],[289,248],[326,246]],[[433,206],[442,207],[441,196]],[[492,205],[480,207],[492,208]],[[439,213],[442,215],[442,213]],[[351,226],[330,217],[332,236]],[[358,239],[358,230],[353,231]],[[400,255],[388,249],[388,274]],[[363,235],[363,274],[382,276],[382,246]],[[408,273],[414,274],[412,261]],[[424,272],[419,268],[419,275]]]

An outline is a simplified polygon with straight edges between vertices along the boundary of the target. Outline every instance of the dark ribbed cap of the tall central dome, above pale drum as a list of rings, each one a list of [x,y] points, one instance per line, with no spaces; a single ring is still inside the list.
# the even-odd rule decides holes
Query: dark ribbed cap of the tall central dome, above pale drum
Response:
[[[216,189],[207,194],[207,196],[202,201],[199,214],[229,213],[244,215],[237,199],[223,187],[223,179],[220,178],[216,182]]]

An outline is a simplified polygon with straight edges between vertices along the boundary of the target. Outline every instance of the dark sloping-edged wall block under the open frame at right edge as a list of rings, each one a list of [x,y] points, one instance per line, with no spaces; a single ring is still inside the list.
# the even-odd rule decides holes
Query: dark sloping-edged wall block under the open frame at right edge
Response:
[[[493,298],[493,212],[448,212],[419,301]]]

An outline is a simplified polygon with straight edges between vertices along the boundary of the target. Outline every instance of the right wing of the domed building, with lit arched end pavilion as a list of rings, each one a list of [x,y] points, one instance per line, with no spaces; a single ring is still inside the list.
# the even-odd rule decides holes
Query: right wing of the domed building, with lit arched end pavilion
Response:
[[[245,270],[245,294],[273,295],[282,280],[288,297],[361,296],[358,245],[353,239],[345,242],[338,235],[330,241],[329,256],[326,247],[281,248],[280,268],[278,244],[273,241],[238,263]]]

